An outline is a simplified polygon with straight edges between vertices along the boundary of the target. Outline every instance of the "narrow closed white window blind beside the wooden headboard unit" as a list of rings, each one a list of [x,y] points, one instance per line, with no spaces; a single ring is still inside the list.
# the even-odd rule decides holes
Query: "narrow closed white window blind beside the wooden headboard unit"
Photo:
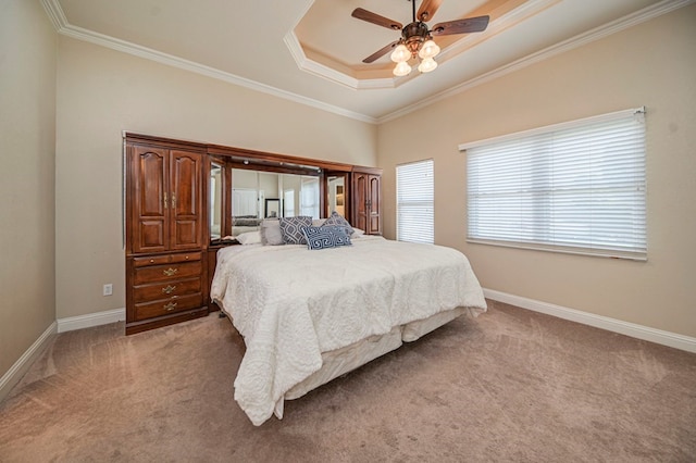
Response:
[[[396,167],[396,232],[399,241],[434,242],[434,187],[432,159]]]

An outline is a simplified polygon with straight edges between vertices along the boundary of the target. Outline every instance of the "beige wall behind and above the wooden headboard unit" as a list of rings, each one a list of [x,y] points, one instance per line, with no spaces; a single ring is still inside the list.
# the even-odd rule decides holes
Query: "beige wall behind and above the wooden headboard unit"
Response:
[[[122,130],[361,165],[376,127],[61,37],[57,316],[125,306]],[[114,295],[102,297],[112,283]]]

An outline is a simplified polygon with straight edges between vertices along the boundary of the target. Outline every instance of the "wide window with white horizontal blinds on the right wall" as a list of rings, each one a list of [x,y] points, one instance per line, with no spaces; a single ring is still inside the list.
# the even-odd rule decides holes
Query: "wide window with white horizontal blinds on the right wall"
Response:
[[[468,240],[645,260],[644,109],[460,146]]]

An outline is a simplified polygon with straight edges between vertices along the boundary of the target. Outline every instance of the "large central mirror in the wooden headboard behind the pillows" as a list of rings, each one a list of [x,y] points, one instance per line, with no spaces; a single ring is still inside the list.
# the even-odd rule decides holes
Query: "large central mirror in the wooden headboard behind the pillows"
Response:
[[[320,216],[319,177],[232,170],[232,236],[259,229],[264,217]]]

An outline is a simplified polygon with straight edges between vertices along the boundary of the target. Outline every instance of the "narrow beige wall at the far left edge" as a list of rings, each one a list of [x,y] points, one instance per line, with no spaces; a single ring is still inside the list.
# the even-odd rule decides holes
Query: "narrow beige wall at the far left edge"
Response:
[[[38,1],[0,2],[0,377],[55,320],[55,43]]]

